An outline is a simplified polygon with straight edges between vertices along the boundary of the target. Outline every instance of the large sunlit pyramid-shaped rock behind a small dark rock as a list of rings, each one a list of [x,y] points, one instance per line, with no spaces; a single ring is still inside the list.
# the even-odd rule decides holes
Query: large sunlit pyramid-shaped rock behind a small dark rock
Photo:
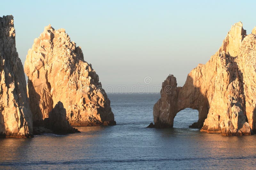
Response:
[[[42,125],[58,101],[71,125],[116,124],[98,75],[64,29],[46,26],[29,49],[24,69],[34,124]]]

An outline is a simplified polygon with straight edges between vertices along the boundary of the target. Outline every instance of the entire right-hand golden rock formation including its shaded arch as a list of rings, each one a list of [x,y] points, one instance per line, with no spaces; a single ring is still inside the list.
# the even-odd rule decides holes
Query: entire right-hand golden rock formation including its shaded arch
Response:
[[[173,127],[185,108],[199,112],[191,127],[222,135],[250,135],[256,130],[256,35],[246,35],[241,22],[231,27],[220,49],[206,64],[199,64],[177,87],[173,75],[162,84],[154,105],[155,126]]]

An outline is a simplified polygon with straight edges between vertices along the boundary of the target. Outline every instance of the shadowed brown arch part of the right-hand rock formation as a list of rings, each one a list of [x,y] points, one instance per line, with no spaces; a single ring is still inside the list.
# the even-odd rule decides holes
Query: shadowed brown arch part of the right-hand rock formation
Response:
[[[183,87],[177,87],[177,81],[173,75],[167,77],[163,82],[161,99],[159,99],[153,108],[156,127],[173,127],[174,117],[178,112],[186,108],[196,109],[198,111],[198,121],[193,124],[193,127],[203,127],[209,110],[209,102],[201,94],[199,88],[190,88],[191,85],[193,86],[193,79],[190,76],[188,76],[186,84]],[[160,107],[169,108],[169,110],[165,110],[168,114],[165,114],[166,112],[160,112]]]

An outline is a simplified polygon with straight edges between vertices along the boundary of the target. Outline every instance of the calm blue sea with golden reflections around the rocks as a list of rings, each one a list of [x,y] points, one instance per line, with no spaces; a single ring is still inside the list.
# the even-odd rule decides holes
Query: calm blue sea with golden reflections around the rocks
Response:
[[[116,126],[1,138],[0,169],[256,169],[256,135],[224,137],[188,128],[198,119],[189,108],[177,114],[173,128],[146,128],[159,94],[108,97]]]

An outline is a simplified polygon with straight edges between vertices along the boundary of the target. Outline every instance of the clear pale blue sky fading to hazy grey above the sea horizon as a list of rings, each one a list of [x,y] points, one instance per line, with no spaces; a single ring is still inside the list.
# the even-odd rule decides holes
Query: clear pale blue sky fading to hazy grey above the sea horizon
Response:
[[[65,28],[81,46],[103,87],[161,85],[174,74],[183,86],[198,63],[221,46],[231,25],[242,21],[247,34],[256,25],[256,1],[8,1],[1,16],[14,16],[22,63],[35,38],[51,24]]]

